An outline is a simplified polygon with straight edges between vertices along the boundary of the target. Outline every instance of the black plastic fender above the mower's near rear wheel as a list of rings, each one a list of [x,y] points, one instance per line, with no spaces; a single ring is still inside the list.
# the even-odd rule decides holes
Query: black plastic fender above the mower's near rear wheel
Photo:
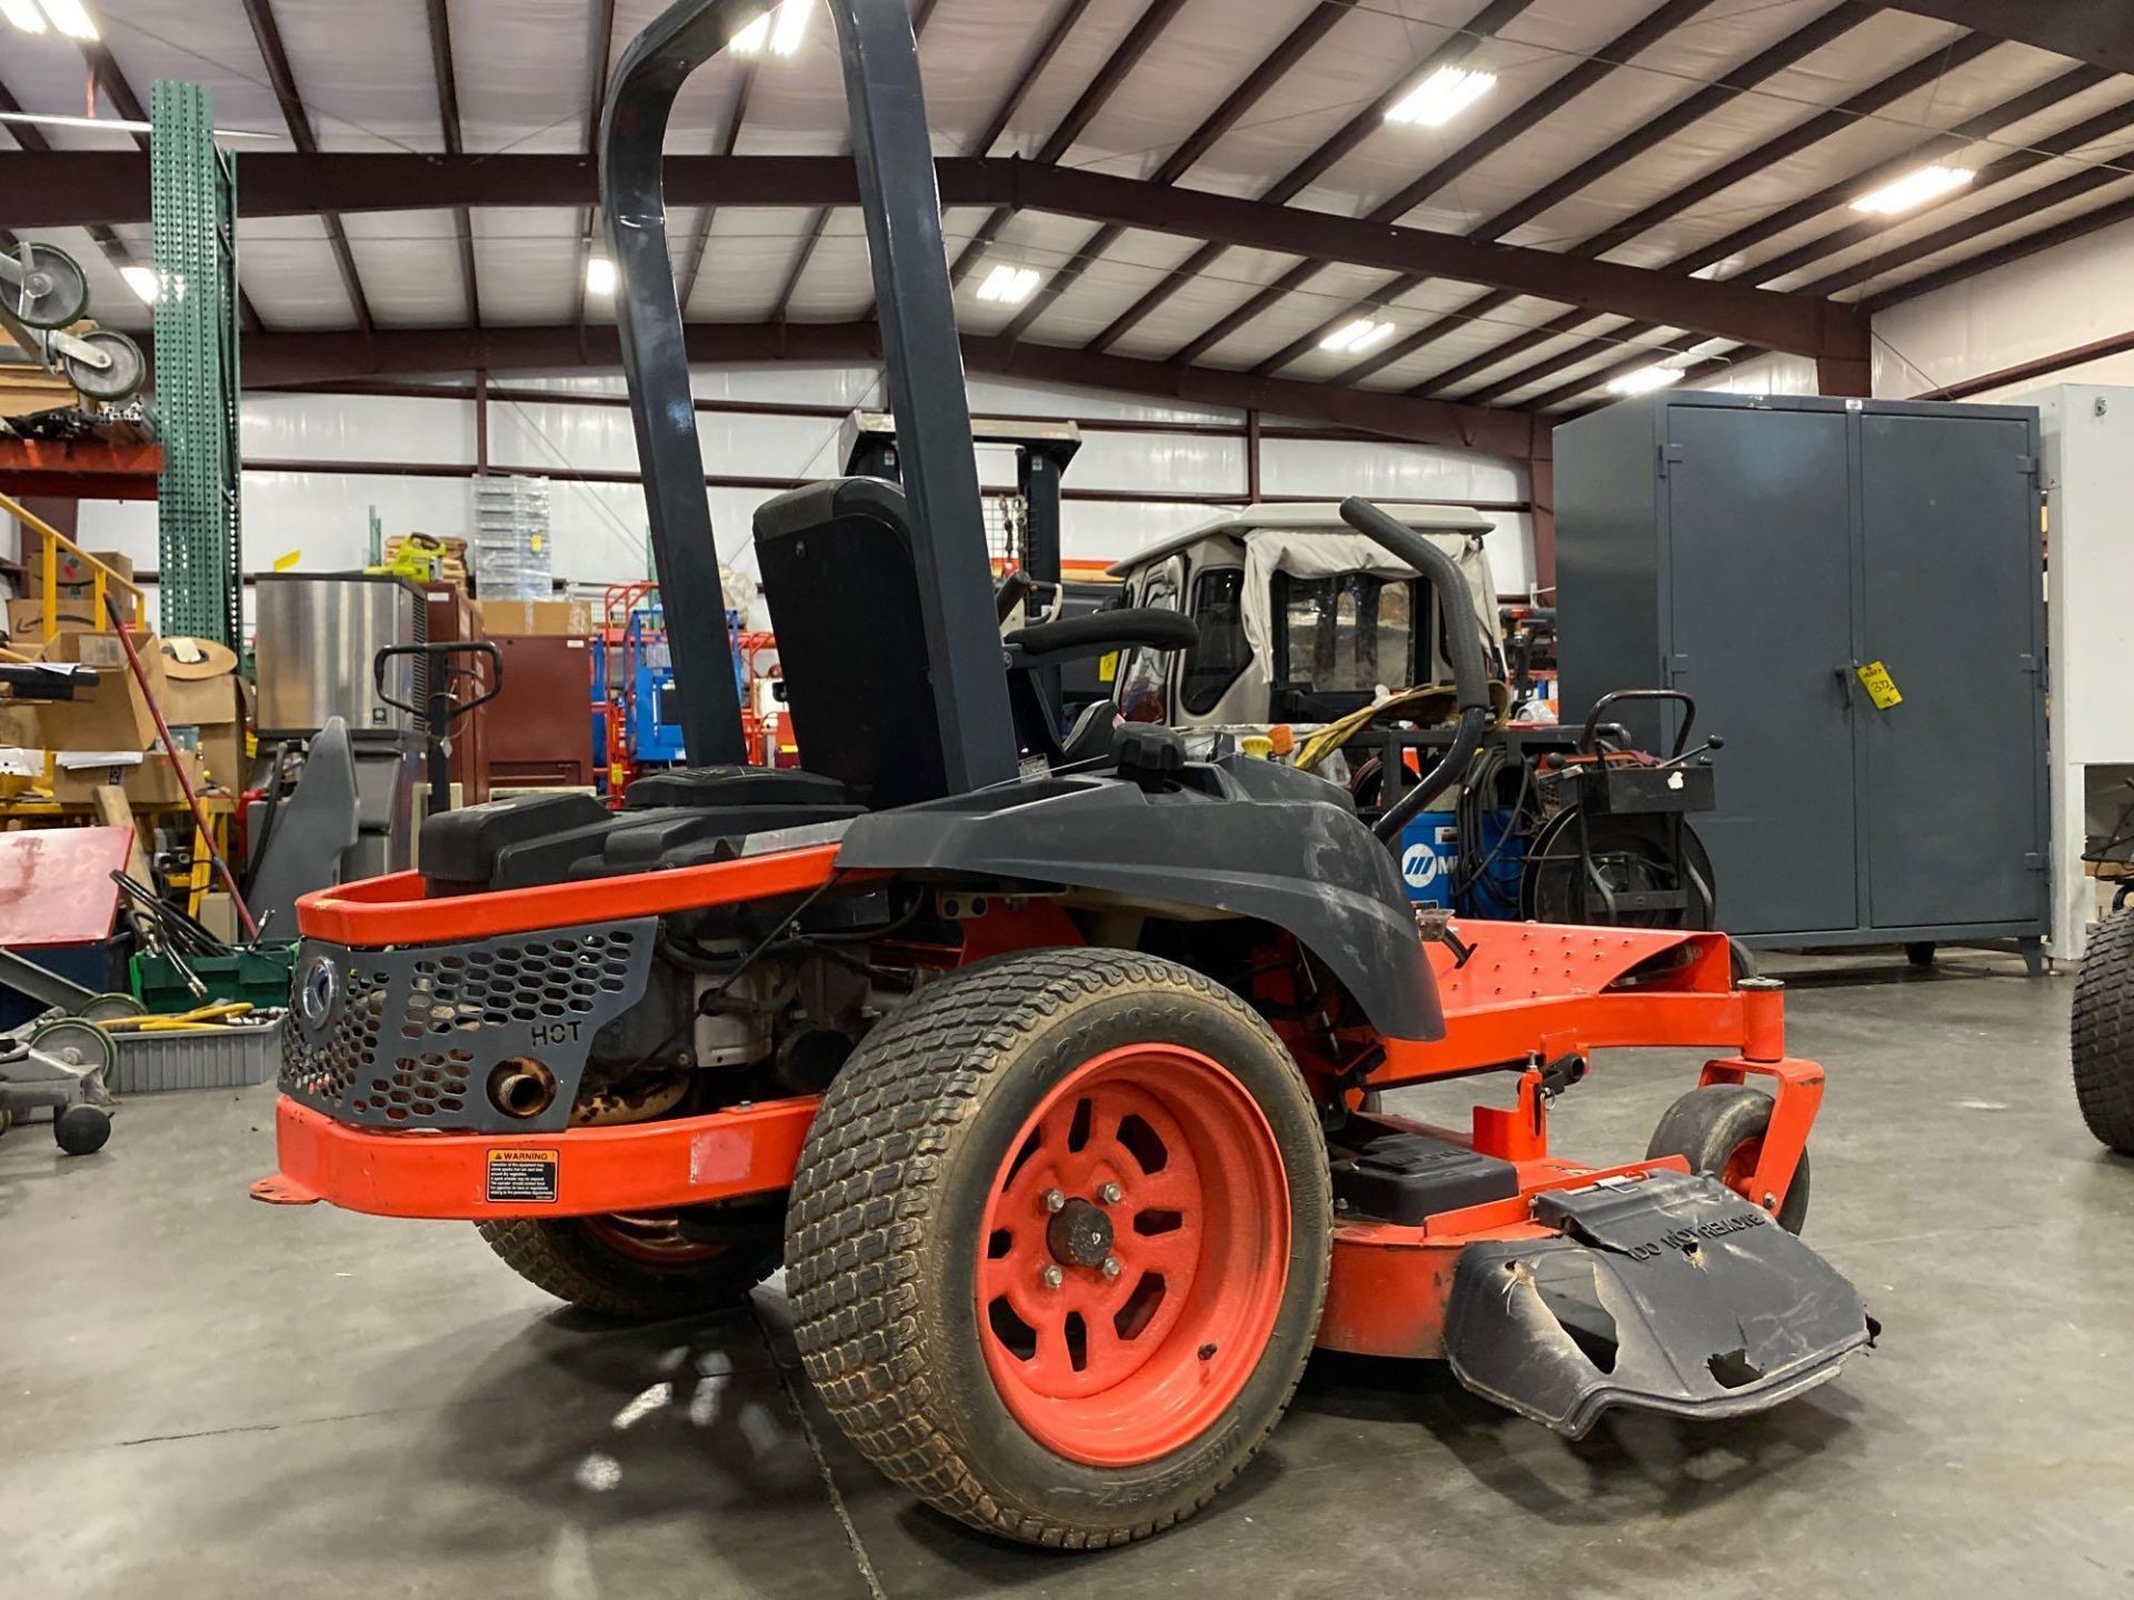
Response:
[[[841,868],[1101,890],[1287,930],[1391,1039],[1443,1039],[1400,868],[1347,796],[1251,757],[1161,783],[1039,777],[856,817]]]

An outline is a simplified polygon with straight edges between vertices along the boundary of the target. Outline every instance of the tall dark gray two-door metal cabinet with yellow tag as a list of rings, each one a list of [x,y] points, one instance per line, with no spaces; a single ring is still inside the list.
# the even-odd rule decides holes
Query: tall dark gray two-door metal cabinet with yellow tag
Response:
[[[1556,429],[1564,717],[1697,698],[1726,738],[1697,830],[1743,943],[2044,932],[2036,459],[2014,405],[1692,393]]]

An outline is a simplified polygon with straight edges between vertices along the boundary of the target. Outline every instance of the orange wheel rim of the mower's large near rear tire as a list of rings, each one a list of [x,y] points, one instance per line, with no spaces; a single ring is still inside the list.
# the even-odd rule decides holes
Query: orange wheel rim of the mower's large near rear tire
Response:
[[[1219,1062],[1127,1045],[1018,1131],[977,1235],[977,1338],[1009,1414],[1088,1466],[1137,1466],[1238,1399],[1289,1280],[1289,1182]]]

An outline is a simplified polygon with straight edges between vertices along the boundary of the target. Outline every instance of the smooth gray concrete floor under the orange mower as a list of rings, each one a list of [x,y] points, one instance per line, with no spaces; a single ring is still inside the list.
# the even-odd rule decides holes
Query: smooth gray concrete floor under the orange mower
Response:
[[[879,1481],[775,1286],[753,1316],[612,1329],[465,1225],[250,1203],[269,1088],[137,1099],[81,1161],[17,1129],[0,1594],[2125,1596],[2134,1163],[2076,1118],[2070,983],[1944,962],[1795,964],[1795,1050],[1831,1069],[1807,1235],[1886,1329],[1837,1382],[1568,1444],[1438,1365],[1319,1357],[1214,1508],[1105,1555]],[[1641,1150],[1686,1071],[1605,1056],[1560,1148]]]

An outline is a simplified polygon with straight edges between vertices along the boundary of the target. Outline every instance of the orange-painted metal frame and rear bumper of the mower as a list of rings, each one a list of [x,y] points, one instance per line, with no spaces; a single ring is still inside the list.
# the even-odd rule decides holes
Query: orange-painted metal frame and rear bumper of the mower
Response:
[[[805,894],[830,883],[837,845],[751,855],[713,866],[587,883],[425,900],[414,873],[322,890],[299,902],[307,937],[380,947],[482,939],[647,917],[708,905]],[[888,877],[849,873],[851,881]],[[1050,902],[1029,900],[965,924],[967,947],[947,960],[1076,941]],[[1477,1105],[1466,1133],[1428,1129],[1513,1163],[1515,1197],[1432,1216],[1421,1227],[1340,1222],[1319,1342],[1372,1355],[1440,1355],[1445,1299],[1460,1250],[1477,1239],[1539,1237],[1532,1197],[1549,1188],[1684,1171],[1675,1156],[1588,1167],[1549,1154],[1543,1067],[1620,1045],[1726,1052],[1699,1084],[1767,1077],[1771,1122],[1748,1199],[1778,1212],[1822,1103],[1822,1069],[1786,1056],[1778,983],[1735,986],[1724,934],[1545,924],[1472,924],[1462,943],[1428,945],[1445,1005],[1445,1037],[1342,1039],[1359,1058],[1383,1050],[1370,1073],[1342,1088],[1389,1088],[1481,1071],[1515,1071],[1509,1107]],[[1327,1062],[1306,1062],[1321,1079]],[[280,1205],[331,1201],[380,1216],[491,1220],[593,1216],[775,1195],[792,1184],[815,1099],[766,1101],[708,1116],[568,1129],[546,1135],[414,1133],[356,1129],[282,1097],[275,1111],[280,1171],[254,1184]],[[553,1199],[491,1199],[491,1161],[548,1161]]]

